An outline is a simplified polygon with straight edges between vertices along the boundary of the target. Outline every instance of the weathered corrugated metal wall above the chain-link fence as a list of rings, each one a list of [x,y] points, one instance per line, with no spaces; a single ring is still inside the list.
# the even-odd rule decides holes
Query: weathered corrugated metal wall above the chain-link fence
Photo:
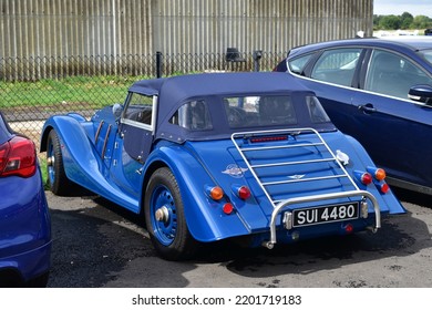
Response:
[[[372,34],[373,0],[0,0],[0,58],[278,52]]]

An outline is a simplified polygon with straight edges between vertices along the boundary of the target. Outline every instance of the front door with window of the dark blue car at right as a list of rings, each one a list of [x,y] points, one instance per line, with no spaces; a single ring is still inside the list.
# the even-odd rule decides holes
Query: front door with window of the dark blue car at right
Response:
[[[431,76],[405,55],[370,50],[364,91],[352,99],[353,128],[372,159],[388,173],[432,187],[432,108],[409,100],[410,87],[432,85]]]

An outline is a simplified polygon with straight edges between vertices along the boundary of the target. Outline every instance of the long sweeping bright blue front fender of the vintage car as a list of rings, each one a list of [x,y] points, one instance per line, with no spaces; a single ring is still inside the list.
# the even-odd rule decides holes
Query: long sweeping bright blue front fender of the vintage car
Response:
[[[47,151],[47,140],[51,130],[59,135],[64,170],[69,179],[132,211],[138,210],[136,199],[107,183],[101,174],[100,167],[103,163],[80,120],[68,115],[50,117],[42,130],[41,152]]]

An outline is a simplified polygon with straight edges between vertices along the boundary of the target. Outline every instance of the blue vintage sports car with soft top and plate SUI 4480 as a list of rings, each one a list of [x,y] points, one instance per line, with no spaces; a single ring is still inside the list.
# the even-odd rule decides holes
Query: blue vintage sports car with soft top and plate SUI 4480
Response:
[[[41,151],[54,194],[79,185],[142,214],[169,260],[226,238],[272,248],[374,231],[404,213],[384,170],[284,73],[140,81],[90,121],[50,117]]]

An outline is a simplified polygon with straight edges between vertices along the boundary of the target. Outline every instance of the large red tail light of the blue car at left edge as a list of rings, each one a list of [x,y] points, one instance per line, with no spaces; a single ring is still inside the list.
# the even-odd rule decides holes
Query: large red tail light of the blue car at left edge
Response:
[[[30,177],[37,169],[34,143],[16,136],[0,146],[0,177],[17,175]]]

